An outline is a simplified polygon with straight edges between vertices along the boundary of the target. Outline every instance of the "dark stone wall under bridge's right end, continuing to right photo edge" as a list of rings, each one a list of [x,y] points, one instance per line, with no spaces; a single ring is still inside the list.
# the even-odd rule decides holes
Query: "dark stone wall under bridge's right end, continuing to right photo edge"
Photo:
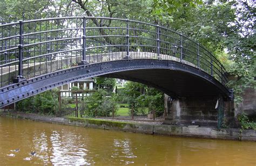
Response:
[[[245,112],[248,117],[256,119],[256,89],[246,89],[243,101],[236,105],[224,100],[224,123],[228,127],[240,127],[237,115]],[[167,117],[164,124],[214,126],[218,124],[218,110],[215,109],[218,97],[171,99],[165,95]]]

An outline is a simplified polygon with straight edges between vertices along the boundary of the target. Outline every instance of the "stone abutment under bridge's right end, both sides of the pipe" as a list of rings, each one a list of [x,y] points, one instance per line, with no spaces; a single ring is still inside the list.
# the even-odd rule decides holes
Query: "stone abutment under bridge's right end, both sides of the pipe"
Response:
[[[166,98],[165,98],[166,100]],[[167,117],[164,124],[170,125],[199,125],[218,126],[218,110],[215,109],[218,97],[182,97],[179,99],[167,98]],[[238,126],[234,117],[234,104],[224,101],[223,124],[229,127]]]

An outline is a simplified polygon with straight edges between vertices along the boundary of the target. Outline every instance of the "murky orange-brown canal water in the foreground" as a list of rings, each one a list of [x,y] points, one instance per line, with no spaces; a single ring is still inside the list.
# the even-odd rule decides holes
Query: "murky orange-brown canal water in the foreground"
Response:
[[[256,165],[255,154],[256,142],[146,135],[0,117],[0,165]]]

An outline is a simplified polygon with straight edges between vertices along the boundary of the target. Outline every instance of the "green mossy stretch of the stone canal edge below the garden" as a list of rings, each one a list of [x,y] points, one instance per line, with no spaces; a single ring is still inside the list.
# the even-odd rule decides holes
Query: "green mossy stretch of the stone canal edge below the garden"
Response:
[[[68,117],[70,121],[78,121],[82,123],[87,123],[91,125],[106,125],[109,127],[117,127],[117,128],[124,128],[126,125],[129,125],[132,128],[136,128],[136,125],[131,122],[123,122],[123,121],[112,121],[112,120],[102,120],[102,119],[93,119],[93,118],[75,118],[75,117]]]

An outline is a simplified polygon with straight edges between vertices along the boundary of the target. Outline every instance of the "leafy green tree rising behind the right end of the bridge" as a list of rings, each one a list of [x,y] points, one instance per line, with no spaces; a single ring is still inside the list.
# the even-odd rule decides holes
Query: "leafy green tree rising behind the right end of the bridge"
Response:
[[[228,86],[239,103],[245,88],[255,88],[255,3],[213,2],[198,3],[196,8],[180,5],[182,9],[167,12],[172,19],[159,17],[159,22],[198,40],[223,62],[235,77]]]

